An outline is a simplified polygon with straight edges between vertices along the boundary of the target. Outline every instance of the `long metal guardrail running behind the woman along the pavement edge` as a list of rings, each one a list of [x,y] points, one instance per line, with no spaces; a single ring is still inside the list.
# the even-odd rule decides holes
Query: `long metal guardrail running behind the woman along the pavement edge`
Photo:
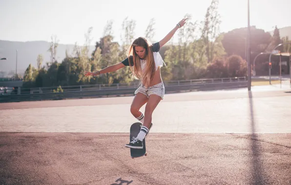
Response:
[[[247,87],[246,77],[165,81],[165,93],[210,91]],[[96,98],[134,95],[138,84],[98,84],[64,86],[63,92],[53,92],[57,87],[21,89],[18,93],[0,96],[0,102],[21,102],[59,100],[76,98]]]

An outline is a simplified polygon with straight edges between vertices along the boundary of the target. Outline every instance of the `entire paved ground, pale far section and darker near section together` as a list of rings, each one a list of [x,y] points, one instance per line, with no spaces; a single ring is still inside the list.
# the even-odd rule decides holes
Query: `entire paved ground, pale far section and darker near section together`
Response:
[[[0,104],[0,185],[291,185],[287,92],[166,95],[160,105],[164,112],[154,115],[146,139],[148,155],[136,159],[124,147],[134,120],[110,112],[130,106],[132,97]],[[228,108],[235,104],[240,111]],[[171,105],[180,111],[166,110]],[[92,107],[103,110],[106,120],[95,113],[97,129],[90,131],[86,116]],[[66,112],[73,109],[79,114]],[[41,116],[48,110],[67,119]],[[196,115],[187,117],[185,111]],[[83,119],[74,122],[83,112]],[[108,119],[120,120],[121,126],[109,128]]]

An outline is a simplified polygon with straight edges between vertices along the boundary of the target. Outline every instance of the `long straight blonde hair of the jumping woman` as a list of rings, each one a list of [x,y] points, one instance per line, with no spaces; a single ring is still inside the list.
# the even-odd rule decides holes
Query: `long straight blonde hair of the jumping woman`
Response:
[[[146,66],[145,66],[145,73],[142,74],[142,66],[141,66],[141,60],[140,57],[135,53],[135,47],[141,46],[145,48],[145,60],[146,60]],[[132,61],[130,56],[132,56]],[[127,50],[127,57],[129,60],[129,63],[133,63],[133,66],[130,66],[130,70],[132,72],[132,77],[135,79],[140,79],[140,83],[145,82],[145,86],[148,86],[150,81],[153,79],[155,72],[156,72],[156,66],[152,51],[152,44],[150,44],[144,37],[138,37],[135,39],[131,46]]]

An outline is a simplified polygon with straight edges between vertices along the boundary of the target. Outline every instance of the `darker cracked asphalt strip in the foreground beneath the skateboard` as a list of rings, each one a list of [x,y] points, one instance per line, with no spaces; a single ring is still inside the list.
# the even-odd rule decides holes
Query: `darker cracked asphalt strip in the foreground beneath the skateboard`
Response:
[[[1,133],[1,185],[290,185],[291,134]]]

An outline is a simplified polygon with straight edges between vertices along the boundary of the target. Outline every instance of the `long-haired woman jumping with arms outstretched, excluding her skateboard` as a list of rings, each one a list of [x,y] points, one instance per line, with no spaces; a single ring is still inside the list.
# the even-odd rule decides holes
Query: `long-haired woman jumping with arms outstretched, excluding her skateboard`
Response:
[[[127,58],[117,64],[110,65],[100,71],[85,71],[85,76],[99,75],[117,71],[125,66],[129,66],[134,78],[140,80],[140,86],[135,91],[130,112],[132,115],[143,123],[138,136],[133,137],[128,148],[143,148],[143,139],[152,127],[152,113],[164,99],[165,87],[161,77],[160,68],[163,66],[163,59],[159,50],[175,34],[175,32],[184,26],[187,19],[182,19],[161,41],[150,44],[145,38],[138,37],[133,41],[127,52]],[[145,115],[140,108],[145,105]]]

